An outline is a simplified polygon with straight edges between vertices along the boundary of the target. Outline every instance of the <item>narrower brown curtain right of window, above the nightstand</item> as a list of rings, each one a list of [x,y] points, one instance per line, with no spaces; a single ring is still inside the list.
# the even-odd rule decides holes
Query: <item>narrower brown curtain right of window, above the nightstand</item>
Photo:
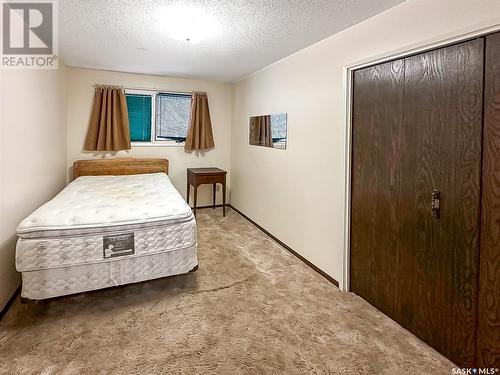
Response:
[[[214,148],[212,122],[208,109],[208,97],[204,92],[194,92],[191,100],[191,114],[186,136],[185,150],[206,150]]]

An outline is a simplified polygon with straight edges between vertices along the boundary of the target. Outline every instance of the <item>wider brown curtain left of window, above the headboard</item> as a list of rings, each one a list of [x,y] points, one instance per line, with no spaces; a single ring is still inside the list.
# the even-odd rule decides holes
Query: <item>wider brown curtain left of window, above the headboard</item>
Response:
[[[97,86],[90,117],[87,151],[120,151],[130,149],[127,100],[121,87]]]

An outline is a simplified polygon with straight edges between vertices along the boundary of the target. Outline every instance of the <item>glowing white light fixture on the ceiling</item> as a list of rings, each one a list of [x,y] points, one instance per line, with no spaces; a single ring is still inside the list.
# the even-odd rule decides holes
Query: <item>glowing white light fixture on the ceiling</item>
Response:
[[[192,5],[168,6],[160,22],[171,38],[187,42],[199,42],[213,36],[217,31],[215,19]]]

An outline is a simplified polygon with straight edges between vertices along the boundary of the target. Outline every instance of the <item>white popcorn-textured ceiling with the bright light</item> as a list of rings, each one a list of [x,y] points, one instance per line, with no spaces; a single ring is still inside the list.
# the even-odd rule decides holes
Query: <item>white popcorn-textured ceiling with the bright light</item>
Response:
[[[235,81],[402,1],[61,0],[60,54],[74,67]],[[192,40],[174,39],[179,29]]]

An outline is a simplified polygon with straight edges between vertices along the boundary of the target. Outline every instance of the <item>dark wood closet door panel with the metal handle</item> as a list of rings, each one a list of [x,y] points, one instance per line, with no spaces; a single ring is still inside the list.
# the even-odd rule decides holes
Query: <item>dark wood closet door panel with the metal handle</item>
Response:
[[[460,366],[475,357],[483,40],[405,59],[398,321]],[[431,210],[439,190],[440,212]]]

